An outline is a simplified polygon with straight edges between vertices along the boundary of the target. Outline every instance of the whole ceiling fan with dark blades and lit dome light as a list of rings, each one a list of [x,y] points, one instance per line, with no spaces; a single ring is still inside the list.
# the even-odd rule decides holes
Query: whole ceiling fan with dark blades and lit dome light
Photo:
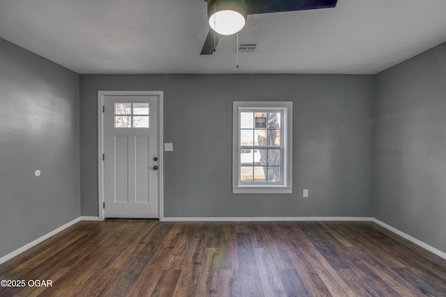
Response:
[[[211,55],[222,35],[231,35],[240,31],[245,25],[247,15],[260,13],[282,13],[284,11],[333,8],[337,0],[204,0],[208,2],[208,19],[211,29],[204,41],[201,55]],[[232,31],[219,28],[223,17],[217,13],[231,14],[229,25]],[[217,24],[217,22],[219,24]],[[214,31],[215,29],[215,31]]]

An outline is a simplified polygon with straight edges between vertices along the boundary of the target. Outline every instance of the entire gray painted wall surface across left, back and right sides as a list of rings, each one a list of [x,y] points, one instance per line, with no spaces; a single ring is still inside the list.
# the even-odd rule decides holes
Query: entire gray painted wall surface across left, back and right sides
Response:
[[[0,65],[0,257],[98,216],[98,90],[164,91],[166,217],[374,216],[446,250],[445,44],[376,76],[79,81],[1,39]],[[293,193],[232,194],[232,102],[274,100],[293,102]]]

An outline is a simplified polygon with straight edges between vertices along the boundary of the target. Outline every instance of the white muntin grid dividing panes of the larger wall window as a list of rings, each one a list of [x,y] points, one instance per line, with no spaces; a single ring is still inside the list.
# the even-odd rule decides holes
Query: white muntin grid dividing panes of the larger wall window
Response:
[[[285,154],[285,150],[284,150],[284,111],[285,109],[274,109],[274,108],[268,108],[268,107],[259,107],[259,108],[243,108],[240,107],[238,109],[238,184],[245,186],[245,185],[283,185],[284,181],[285,181],[285,175],[284,175],[284,154]],[[243,123],[242,123],[242,113],[252,113],[252,128],[241,128]],[[255,113],[266,113],[266,118],[270,118],[270,113],[279,113],[280,114],[280,119],[279,119],[279,129],[277,129],[275,127],[275,129],[270,129],[268,128],[268,125],[266,128],[256,128],[255,127],[255,118],[256,118],[256,114]],[[268,120],[267,120],[268,121]],[[241,144],[241,131],[249,131],[252,130],[252,143],[253,145],[242,145]],[[267,131],[266,134],[266,143],[267,145],[255,145],[255,131],[256,130],[262,130],[262,131]],[[280,136],[280,145],[268,145],[268,130],[276,130],[279,131],[279,136]],[[241,163],[241,151],[242,150],[252,150],[252,166],[247,166],[247,165],[243,165]],[[256,166],[254,163],[254,153],[255,150],[267,150],[267,155],[266,155],[266,165],[259,165]],[[268,152],[269,150],[279,150],[279,165],[274,165],[268,166]],[[243,182],[242,180],[242,167],[252,167],[252,182]],[[256,168],[263,168],[266,167],[266,174],[265,174],[265,180],[264,181],[256,181],[255,178],[255,169]],[[279,180],[277,182],[268,182],[268,168],[279,168]]]

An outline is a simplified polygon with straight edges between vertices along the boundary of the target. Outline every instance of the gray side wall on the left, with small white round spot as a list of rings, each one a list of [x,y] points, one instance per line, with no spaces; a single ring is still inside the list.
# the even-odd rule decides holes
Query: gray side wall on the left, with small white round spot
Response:
[[[0,65],[3,257],[80,215],[79,75],[1,38]]]

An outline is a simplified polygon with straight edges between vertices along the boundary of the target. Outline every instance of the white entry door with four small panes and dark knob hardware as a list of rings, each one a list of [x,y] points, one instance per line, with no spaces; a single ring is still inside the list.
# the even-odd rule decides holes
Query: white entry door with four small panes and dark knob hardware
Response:
[[[159,95],[104,96],[105,218],[159,218]]]

